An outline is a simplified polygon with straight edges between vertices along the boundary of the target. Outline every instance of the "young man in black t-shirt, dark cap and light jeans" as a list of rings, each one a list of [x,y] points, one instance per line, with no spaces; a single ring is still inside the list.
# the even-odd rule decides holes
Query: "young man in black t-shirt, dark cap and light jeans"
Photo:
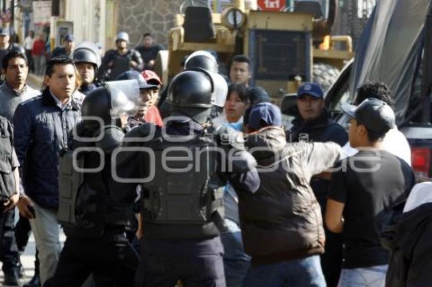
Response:
[[[336,164],[327,200],[325,223],[344,235],[344,263],[338,286],[384,286],[389,254],[380,243],[389,207],[404,201],[414,185],[411,167],[381,150],[394,127],[394,113],[379,99],[342,110],[351,118],[350,145],[359,153]]]

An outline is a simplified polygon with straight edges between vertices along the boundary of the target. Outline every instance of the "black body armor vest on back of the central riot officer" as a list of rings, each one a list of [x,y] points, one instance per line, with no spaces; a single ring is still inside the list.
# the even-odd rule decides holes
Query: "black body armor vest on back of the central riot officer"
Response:
[[[157,225],[218,223],[224,213],[225,183],[217,174],[216,143],[203,134],[166,137],[150,142],[154,157],[145,163],[152,180],[143,184],[144,221]]]

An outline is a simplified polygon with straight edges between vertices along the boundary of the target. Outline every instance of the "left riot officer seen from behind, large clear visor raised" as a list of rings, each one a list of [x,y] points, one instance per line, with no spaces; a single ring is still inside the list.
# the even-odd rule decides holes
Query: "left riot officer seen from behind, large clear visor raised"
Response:
[[[124,136],[119,115],[131,111],[138,93],[135,80],[108,82],[82,103],[73,151],[59,160],[58,220],[66,242],[45,286],[81,286],[91,273],[97,286],[133,286],[139,257],[125,233],[130,206],[113,201],[108,189],[111,152]]]

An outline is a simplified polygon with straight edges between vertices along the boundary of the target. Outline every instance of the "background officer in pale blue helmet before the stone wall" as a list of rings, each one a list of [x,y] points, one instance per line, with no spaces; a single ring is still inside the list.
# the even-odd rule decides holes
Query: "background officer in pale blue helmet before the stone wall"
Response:
[[[115,37],[116,50],[109,50],[102,59],[98,72],[101,80],[110,81],[127,70],[137,70],[141,73],[143,62],[141,54],[135,49],[129,49],[129,34],[119,32]]]

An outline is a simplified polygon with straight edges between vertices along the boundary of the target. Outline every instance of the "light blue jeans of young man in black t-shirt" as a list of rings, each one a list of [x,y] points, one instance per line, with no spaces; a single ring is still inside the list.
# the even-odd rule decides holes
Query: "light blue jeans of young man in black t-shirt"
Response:
[[[384,287],[388,265],[342,269],[338,287]]]

